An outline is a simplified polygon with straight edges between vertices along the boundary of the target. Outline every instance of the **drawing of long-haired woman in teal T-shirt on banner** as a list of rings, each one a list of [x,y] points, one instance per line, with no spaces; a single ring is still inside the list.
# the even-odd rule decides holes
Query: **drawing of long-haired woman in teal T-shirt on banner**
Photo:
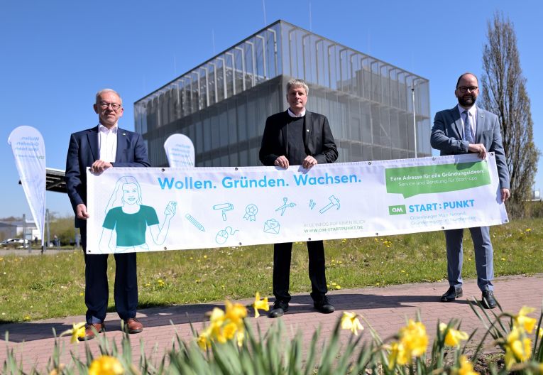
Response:
[[[155,244],[163,244],[170,228],[170,221],[175,215],[176,206],[177,202],[168,202],[164,211],[165,219],[160,226],[155,209],[141,204],[141,188],[138,180],[132,176],[119,178],[106,207],[100,249],[102,251],[110,249],[114,253],[127,250],[146,251],[149,249],[146,243],[147,228]],[[114,231],[116,244],[112,245],[111,238]]]

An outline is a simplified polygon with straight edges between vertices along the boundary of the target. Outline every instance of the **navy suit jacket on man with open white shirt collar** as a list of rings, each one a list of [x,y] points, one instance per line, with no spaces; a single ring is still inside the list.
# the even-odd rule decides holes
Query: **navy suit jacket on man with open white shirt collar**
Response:
[[[72,208],[81,203],[87,204],[87,171],[94,161],[100,158],[98,147],[98,126],[78,131],[70,136],[70,146],[66,156],[66,188]],[[150,167],[147,149],[141,135],[124,129],[117,129],[117,153],[115,167]],[[75,227],[85,224],[75,219]]]

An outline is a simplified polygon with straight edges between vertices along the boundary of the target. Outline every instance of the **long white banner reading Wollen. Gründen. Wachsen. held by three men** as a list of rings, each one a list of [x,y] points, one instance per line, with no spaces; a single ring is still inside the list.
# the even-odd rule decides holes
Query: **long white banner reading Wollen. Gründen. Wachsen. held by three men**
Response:
[[[87,173],[87,252],[386,236],[508,222],[493,153]]]

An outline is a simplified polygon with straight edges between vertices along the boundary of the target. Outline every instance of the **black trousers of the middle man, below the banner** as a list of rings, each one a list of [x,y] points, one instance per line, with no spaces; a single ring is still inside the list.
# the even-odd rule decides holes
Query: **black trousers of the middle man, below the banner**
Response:
[[[311,298],[319,301],[327,292],[327,278],[324,271],[324,244],[322,241],[308,241],[309,280],[311,281]],[[273,295],[276,300],[290,301],[288,288],[290,284],[290,259],[292,258],[292,242],[273,245]]]

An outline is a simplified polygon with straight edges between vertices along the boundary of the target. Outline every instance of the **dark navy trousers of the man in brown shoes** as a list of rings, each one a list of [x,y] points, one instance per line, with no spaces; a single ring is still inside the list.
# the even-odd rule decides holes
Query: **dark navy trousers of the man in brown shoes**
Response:
[[[87,254],[87,227],[81,227],[81,239],[85,260],[85,305],[87,323],[99,323],[106,319],[109,287],[107,282],[107,258],[109,254]],[[136,317],[138,308],[138,276],[136,253],[114,254],[114,300],[117,314],[126,320]]]

